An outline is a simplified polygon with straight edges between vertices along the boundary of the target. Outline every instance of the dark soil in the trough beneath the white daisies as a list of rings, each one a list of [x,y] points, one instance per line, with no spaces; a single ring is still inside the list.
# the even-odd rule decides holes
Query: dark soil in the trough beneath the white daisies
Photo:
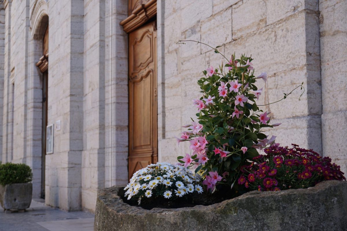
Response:
[[[201,194],[194,193],[188,194],[188,196],[184,196],[182,198],[177,199],[166,199],[163,197],[151,197],[146,198],[143,197],[141,199],[141,204],[138,205],[137,199],[130,199],[124,196],[124,190],[119,190],[118,196],[120,196],[123,202],[132,205],[139,206],[147,210],[151,210],[152,208],[183,208],[183,207],[194,207],[195,205],[212,205],[215,203],[219,203],[228,199],[235,198],[240,195],[240,193],[235,193],[230,188],[227,189],[219,189],[213,194],[208,192],[203,192]]]

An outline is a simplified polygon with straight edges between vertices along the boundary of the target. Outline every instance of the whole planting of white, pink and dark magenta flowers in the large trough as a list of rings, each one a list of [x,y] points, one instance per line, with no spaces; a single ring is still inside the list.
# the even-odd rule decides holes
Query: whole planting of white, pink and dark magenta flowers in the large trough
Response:
[[[215,53],[219,53],[217,48],[213,48]],[[307,188],[323,180],[345,179],[329,158],[298,146],[279,147],[276,136],[266,135],[264,128],[280,125],[271,124],[270,112],[257,104],[263,89],[257,88],[256,81],[266,82],[267,74],[254,74],[251,56],[236,58],[233,54],[227,59],[221,55],[227,64],[203,71],[197,81],[201,97],[193,100],[197,119],[184,125],[187,131],[177,138],[178,144],[189,142],[191,154],[177,158],[181,166],[157,163],[137,171],[125,188],[128,200],[151,203],[151,199],[185,198],[206,205],[254,189]],[[274,103],[297,88],[303,89],[303,83]],[[260,155],[259,150],[267,155]],[[190,167],[195,167],[195,175]]]

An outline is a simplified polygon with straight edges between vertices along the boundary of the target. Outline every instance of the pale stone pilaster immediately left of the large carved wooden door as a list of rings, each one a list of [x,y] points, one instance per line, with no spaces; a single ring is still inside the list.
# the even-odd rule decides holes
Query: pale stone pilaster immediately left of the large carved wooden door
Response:
[[[128,182],[128,1],[105,2],[105,187]]]

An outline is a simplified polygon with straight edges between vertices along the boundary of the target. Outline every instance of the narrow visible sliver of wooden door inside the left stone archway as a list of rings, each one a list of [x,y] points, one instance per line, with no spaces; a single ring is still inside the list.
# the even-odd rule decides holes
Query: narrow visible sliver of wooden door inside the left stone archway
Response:
[[[48,114],[48,25],[42,38],[43,55],[36,66],[42,73],[42,151],[41,151],[41,197],[45,197],[45,165],[46,165],[46,127]]]

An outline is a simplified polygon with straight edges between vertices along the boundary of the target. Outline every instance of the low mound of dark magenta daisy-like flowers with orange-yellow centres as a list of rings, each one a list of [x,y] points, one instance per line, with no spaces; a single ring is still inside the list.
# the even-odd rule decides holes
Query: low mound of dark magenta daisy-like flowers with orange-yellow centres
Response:
[[[329,157],[299,148],[278,147],[265,149],[266,155],[253,158],[251,165],[242,167],[239,185],[260,191],[308,188],[323,180],[346,180],[340,166]]]

